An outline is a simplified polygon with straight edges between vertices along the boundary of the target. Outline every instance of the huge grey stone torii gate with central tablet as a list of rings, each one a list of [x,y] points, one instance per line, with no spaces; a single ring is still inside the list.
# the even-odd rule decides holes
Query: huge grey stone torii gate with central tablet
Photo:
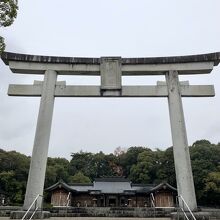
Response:
[[[55,97],[167,97],[173,140],[178,195],[191,210],[197,209],[182,97],[211,97],[213,85],[189,85],[178,75],[210,73],[220,53],[156,58],[73,58],[34,56],[5,52],[2,60],[14,73],[44,74],[33,85],[9,85],[8,95],[41,96],[40,110],[23,209],[43,194]],[[67,86],[57,75],[101,76],[100,86]],[[164,75],[155,86],[122,86],[122,75]],[[41,205],[42,201],[38,202]]]

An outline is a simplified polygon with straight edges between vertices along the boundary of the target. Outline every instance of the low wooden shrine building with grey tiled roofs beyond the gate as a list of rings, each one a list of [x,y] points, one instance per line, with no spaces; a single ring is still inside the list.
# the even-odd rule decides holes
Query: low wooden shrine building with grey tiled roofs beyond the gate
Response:
[[[54,207],[174,207],[177,196],[168,183],[135,184],[124,177],[97,178],[89,184],[61,180],[45,191]]]

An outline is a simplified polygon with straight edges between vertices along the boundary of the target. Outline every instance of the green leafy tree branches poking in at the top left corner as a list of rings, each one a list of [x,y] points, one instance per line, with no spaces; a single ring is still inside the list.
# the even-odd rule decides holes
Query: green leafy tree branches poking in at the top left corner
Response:
[[[1,0],[0,1],[0,27],[10,26],[17,17],[18,1]],[[5,49],[4,38],[0,36],[0,54]]]

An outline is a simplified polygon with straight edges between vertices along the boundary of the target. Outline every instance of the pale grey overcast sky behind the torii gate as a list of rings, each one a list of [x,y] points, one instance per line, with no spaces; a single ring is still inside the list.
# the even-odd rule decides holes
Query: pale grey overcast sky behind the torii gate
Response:
[[[151,57],[220,51],[219,0],[19,0],[18,17],[1,28],[6,50],[71,57]],[[8,97],[10,83],[42,76],[13,74],[0,60],[0,148],[31,155],[39,98]],[[67,84],[99,84],[97,77],[59,77]],[[123,77],[123,84],[156,84],[164,77]],[[220,142],[220,66],[211,74],[181,77],[213,84],[214,98],[184,98],[191,145]],[[57,98],[49,156],[80,150],[172,145],[166,98]]]

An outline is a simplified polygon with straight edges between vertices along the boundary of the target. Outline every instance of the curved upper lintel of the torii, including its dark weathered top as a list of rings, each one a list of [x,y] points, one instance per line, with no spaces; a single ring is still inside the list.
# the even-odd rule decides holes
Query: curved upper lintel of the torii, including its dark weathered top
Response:
[[[15,73],[43,74],[45,70],[53,69],[64,75],[100,75],[100,64],[108,59],[118,61],[122,75],[164,75],[169,70],[176,70],[178,74],[209,73],[219,64],[220,52],[151,58],[56,57],[5,52],[1,58]]]

